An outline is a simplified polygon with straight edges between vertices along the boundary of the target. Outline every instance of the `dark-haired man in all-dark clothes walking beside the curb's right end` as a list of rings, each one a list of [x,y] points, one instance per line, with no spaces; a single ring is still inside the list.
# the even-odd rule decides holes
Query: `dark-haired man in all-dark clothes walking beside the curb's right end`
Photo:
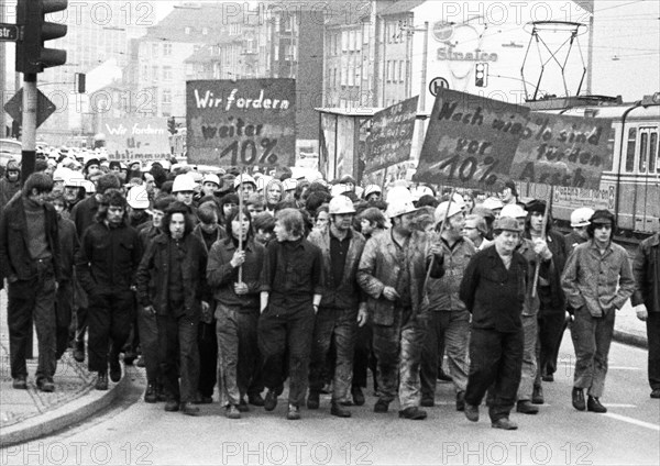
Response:
[[[121,378],[119,353],[131,332],[131,287],[142,257],[138,232],[128,225],[123,195],[110,189],[103,203],[106,209],[85,231],[76,255],[76,273],[89,297],[87,350],[89,370],[98,373],[97,390],[108,389],[108,363],[110,379],[117,382]]]

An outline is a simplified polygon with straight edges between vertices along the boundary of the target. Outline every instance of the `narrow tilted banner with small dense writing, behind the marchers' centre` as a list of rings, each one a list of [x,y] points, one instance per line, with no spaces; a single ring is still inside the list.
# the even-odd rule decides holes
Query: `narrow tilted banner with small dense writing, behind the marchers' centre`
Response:
[[[366,141],[365,174],[410,158],[419,96],[374,114]]]

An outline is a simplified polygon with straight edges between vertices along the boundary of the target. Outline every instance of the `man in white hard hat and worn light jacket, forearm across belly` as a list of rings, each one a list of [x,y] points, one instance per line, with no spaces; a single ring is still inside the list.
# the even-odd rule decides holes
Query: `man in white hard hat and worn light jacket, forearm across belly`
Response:
[[[442,256],[439,246],[431,247],[427,235],[413,229],[417,209],[410,191],[393,188],[388,201],[393,226],[367,242],[358,271],[358,281],[369,295],[378,360],[374,412],[387,412],[398,388],[399,417],[422,420],[427,413],[419,409],[419,362],[429,319],[427,257],[432,264],[431,277],[440,278]],[[435,260],[430,260],[431,255],[436,255]]]

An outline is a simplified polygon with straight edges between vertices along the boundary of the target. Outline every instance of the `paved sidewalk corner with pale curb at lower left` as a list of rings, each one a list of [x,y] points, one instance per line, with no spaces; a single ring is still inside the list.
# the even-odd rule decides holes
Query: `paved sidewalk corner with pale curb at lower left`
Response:
[[[34,355],[36,356],[36,335]],[[77,363],[67,352],[57,363],[55,391],[36,389],[36,359],[28,359],[28,390],[12,388],[7,326],[7,291],[0,291],[0,447],[48,435],[80,422],[112,403],[121,386],[130,384],[125,376],[110,384],[108,391],[94,389],[96,375],[86,363]]]

